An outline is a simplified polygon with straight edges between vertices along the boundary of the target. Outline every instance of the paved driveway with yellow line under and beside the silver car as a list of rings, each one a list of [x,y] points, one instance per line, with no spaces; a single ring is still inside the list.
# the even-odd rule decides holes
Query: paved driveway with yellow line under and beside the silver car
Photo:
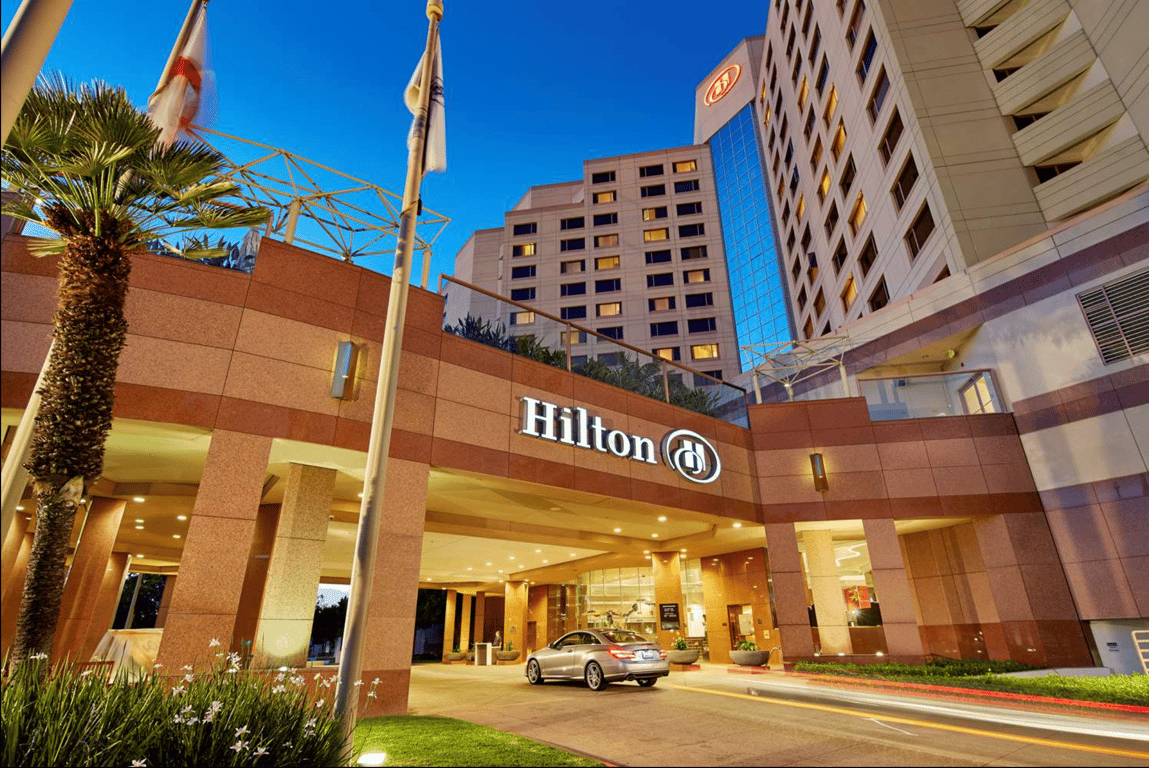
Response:
[[[620,766],[1149,767],[1149,716],[848,691],[718,666],[595,693],[531,686],[520,666],[417,665],[409,708]]]

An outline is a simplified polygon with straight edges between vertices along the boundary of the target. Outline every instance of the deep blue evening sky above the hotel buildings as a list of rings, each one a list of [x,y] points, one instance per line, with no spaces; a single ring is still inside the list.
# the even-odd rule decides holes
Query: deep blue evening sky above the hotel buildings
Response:
[[[476,229],[529,186],[578,178],[585,159],[689,144],[695,85],[769,2],[446,0],[445,174],[424,205],[452,223],[432,283]],[[18,2],[0,2],[7,29]],[[323,15],[323,9],[331,9]],[[184,0],[75,2],[46,69],[123,85],[144,105],[187,11]],[[410,115],[402,90],[426,37],[421,0],[214,0],[213,128],[402,192]],[[390,272],[391,261],[364,266]]]

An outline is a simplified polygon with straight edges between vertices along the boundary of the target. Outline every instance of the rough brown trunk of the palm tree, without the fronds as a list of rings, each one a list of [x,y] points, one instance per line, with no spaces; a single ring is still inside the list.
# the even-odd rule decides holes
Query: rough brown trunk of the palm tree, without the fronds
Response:
[[[124,304],[131,261],[119,235],[131,224],[105,214],[99,235],[92,235],[94,217],[76,222],[62,209],[48,217],[68,247],[60,260],[55,346],[26,464],[37,520],[11,648],[14,663],[52,651],[72,520],[86,485],[103,469],[116,367],[128,336]]]

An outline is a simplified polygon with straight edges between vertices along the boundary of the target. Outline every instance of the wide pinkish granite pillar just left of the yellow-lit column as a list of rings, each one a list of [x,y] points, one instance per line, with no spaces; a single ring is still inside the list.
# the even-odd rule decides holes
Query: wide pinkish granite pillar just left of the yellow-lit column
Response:
[[[214,660],[236,630],[271,438],[216,430],[184,539],[179,581],[160,642],[167,669]]]

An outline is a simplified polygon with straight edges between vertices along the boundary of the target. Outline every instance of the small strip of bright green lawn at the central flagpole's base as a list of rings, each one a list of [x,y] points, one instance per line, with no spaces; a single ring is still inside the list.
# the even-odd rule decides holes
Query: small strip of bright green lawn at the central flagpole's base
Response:
[[[602,766],[564,750],[433,715],[369,717],[355,727],[355,748],[386,752],[386,766]]]

